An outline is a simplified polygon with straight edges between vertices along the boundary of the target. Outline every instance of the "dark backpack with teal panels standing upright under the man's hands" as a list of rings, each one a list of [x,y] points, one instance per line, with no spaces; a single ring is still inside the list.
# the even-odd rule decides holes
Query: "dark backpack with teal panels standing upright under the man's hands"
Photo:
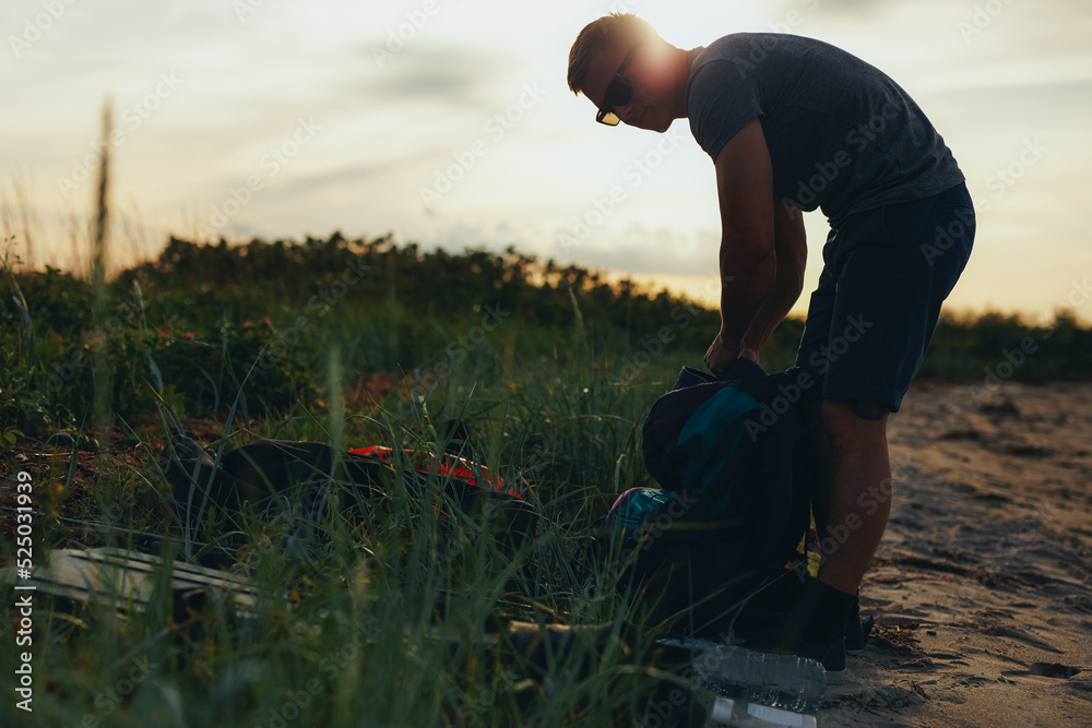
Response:
[[[729,373],[684,367],[644,422],[645,466],[661,488],[627,491],[606,518],[624,534],[619,587],[693,636],[782,618],[807,573],[802,545],[822,486],[805,416],[819,401],[806,377],[746,360]]]

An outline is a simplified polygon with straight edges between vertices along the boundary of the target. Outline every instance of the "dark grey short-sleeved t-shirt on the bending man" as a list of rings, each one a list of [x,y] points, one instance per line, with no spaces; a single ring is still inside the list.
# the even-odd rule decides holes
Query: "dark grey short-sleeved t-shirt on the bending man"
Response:
[[[963,181],[951,151],[905,91],[821,40],[736,33],[688,51],[690,131],[715,160],[759,117],[774,201],[846,215]]]

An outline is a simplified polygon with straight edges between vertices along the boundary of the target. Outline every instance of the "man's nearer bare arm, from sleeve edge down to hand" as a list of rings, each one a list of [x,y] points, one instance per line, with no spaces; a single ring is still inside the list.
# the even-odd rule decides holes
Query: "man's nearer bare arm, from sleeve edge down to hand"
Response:
[[[738,358],[778,272],[773,170],[757,118],[724,145],[714,166],[722,230],[721,332],[705,363],[720,373]]]

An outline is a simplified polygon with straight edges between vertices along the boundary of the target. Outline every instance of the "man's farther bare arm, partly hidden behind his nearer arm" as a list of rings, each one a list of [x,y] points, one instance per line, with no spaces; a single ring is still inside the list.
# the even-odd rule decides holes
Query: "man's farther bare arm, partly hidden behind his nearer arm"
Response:
[[[804,213],[795,207],[773,205],[774,251],[778,259],[773,285],[762,299],[750,326],[744,334],[740,356],[758,361],[759,353],[778,324],[793,308],[804,289],[804,268],[808,260]]]

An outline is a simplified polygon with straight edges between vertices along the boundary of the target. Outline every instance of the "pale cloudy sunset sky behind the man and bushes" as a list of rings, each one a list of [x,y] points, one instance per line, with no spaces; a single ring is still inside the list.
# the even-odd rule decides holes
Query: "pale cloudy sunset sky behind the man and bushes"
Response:
[[[1092,321],[1088,0],[4,0],[5,244],[38,267],[86,259],[109,99],[116,264],[170,234],[390,232],[425,249],[514,246],[712,303],[713,165],[687,121],[607,128],[566,85],[577,34],[612,11],[682,48],[790,32],[880,68],[976,202],[948,310]],[[829,229],[805,218],[798,314]]]

